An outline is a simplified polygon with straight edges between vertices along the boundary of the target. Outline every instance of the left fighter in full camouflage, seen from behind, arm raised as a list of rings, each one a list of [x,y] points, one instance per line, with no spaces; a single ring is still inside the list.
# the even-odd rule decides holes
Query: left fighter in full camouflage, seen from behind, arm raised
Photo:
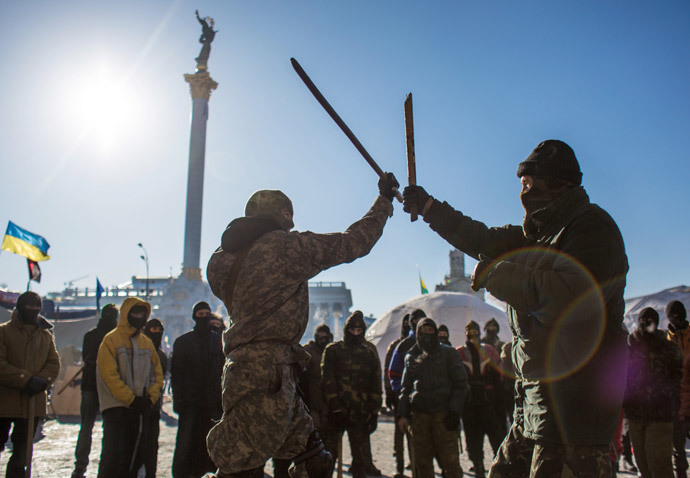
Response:
[[[308,281],[374,247],[399,183],[386,173],[378,186],[371,209],[344,233],[291,231],[292,201],[275,190],[254,193],[245,217],[223,233],[206,269],[232,320],[223,334],[223,418],[207,440],[217,476],[261,477],[271,457],[292,460],[300,477],[332,472],[333,457],[296,392],[309,361],[300,346],[309,323]]]

